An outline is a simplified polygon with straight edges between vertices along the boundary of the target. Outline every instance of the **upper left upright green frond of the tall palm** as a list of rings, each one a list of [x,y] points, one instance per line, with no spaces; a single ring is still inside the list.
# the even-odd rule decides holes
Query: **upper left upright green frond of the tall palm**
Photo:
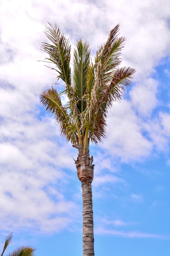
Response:
[[[70,51],[71,46],[69,40],[65,38],[61,33],[59,27],[55,24],[54,27],[48,23],[44,31],[48,39],[52,42],[52,45],[48,43],[42,43],[42,49],[49,55],[46,60],[54,63],[57,68],[58,79],[62,79],[65,84],[71,84],[70,73]]]

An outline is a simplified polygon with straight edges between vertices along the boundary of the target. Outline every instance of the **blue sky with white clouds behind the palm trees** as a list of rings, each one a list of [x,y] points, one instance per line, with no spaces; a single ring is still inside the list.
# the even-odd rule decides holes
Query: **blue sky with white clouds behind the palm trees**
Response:
[[[8,234],[36,256],[82,255],[82,195],[73,158],[41,106],[56,83],[41,51],[45,25],[59,24],[72,50],[92,56],[120,23],[123,65],[137,71],[90,145],[96,256],[170,255],[169,0],[0,1],[0,249]]]

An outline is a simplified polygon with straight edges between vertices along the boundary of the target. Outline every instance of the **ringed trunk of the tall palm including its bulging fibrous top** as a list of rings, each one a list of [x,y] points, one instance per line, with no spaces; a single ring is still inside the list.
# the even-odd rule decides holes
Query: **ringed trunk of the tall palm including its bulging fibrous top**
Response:
[[[94,225],[92,205],[92,181],[94,173],[93,156],[89,153],[83,154],[80,145],[73,145],[78,148],[79,154],[75,160],[78,179],[81,181],[83,196],[83,256],[94,256]]]

